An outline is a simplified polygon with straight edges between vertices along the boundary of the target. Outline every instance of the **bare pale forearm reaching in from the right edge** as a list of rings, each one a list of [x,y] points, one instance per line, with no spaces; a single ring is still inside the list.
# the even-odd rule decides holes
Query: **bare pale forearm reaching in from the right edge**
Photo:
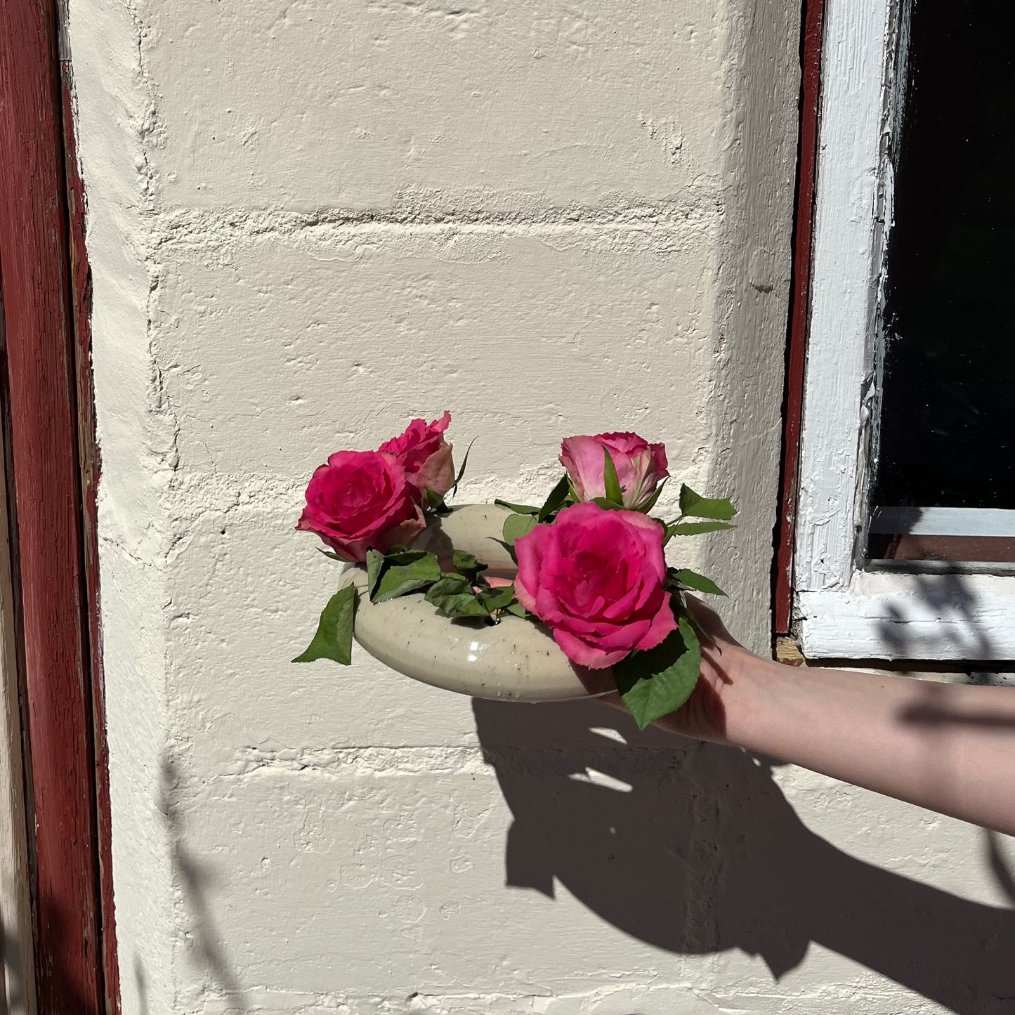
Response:
[[[1015,688],[728,662],[730,743],[1015,832]]]

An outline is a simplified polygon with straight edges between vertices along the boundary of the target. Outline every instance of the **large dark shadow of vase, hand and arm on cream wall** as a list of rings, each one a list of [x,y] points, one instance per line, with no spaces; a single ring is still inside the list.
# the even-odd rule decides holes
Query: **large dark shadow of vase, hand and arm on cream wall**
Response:
[[[639,733],[595,701],[477,700],[474,712],[515,818],[509,885],[552,897],[559,880],[649,944],[683,954],[740,948],[776,979],[813,941],[963,1015],[1015,1013],[1015,910],[835,849],[801,823],[772,762]],[[1012,897],[993,838],[986,859]]]

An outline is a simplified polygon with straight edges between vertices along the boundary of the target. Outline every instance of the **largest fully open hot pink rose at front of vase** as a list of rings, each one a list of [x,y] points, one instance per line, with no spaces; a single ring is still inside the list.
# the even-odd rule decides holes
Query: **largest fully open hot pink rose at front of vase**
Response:
[[[663,527],[645,515],[574,504],[517,540],[515,552],[518,601],[580,666],[612,666],[676,629]]]

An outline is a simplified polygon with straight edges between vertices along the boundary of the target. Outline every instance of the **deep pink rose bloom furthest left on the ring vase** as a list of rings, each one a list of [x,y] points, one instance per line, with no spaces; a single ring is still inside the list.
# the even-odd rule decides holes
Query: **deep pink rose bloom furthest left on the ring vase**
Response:
[[[296,528],[316,532],[345,560],[361,562],[368,549],[408,543],[425,525],[418,493],[394,455],[340,451],[315,470]]]

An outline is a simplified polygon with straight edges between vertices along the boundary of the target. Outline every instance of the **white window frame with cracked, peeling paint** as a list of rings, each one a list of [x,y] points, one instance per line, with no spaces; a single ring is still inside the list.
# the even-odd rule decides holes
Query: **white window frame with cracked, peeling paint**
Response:
[[[1015,659],[1015,577],[863,569],[897,21],[895,0],[825,7],[796,629],[815,659]]]

